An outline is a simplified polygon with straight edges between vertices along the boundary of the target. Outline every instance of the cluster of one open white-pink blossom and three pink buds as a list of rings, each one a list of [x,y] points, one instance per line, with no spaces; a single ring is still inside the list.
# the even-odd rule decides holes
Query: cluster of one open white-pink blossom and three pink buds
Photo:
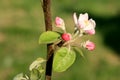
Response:
[[[76,13],[74,13],[73,20],[75,23],[75,32],[73,33],[73,35],[71,35],[70,33],[66,32],[64,20],[60,17],[56,17],[55,19],[56,27],[63,30],[63,33],[61,35],[61,39],[63,41],[75,42],[78,37],[95,34],[96,23],[93,19],[88,19],[88,13],[80,14],[78,18]],[[81,43],[81,45],[82,47],[90,51],[95,49],[95,44],[90,40]]]

